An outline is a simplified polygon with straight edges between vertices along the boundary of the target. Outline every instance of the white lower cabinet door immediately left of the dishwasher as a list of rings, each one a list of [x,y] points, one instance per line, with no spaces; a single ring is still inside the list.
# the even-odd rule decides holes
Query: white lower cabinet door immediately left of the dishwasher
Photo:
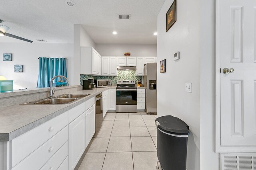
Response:
[[[95,105],[86,110],[86,147],[95,133]]]

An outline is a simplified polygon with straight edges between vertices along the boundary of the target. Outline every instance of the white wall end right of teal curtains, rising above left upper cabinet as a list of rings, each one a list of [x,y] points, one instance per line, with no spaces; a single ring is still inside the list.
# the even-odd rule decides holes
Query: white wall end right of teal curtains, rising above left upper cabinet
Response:
[[[81,50],[80,47],[96,47],[94,41],[79,24],[74,24],[74,84],[80,84]],[[96,48],[95,48],[96,49]]]

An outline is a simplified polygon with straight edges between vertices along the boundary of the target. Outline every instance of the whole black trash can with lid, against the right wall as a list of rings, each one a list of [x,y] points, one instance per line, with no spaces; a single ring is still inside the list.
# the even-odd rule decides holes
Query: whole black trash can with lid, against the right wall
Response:
[[[163,170],[186,170],[189,127],[171,115],[158,117],[157,157]]]

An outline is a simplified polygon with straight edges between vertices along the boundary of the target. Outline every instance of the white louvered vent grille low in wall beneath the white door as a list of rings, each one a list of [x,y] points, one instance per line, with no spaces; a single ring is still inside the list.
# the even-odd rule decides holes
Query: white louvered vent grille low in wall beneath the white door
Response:
[[[256,153],[222,153],[221,170],[256,170]]]

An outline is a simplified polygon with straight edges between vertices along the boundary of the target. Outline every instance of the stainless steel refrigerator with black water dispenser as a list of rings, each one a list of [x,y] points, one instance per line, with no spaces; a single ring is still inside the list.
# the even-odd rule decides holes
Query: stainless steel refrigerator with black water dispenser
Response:
[[[156,63],[144,66],[144,86],[146,87],[146,113],[156,113]]]

